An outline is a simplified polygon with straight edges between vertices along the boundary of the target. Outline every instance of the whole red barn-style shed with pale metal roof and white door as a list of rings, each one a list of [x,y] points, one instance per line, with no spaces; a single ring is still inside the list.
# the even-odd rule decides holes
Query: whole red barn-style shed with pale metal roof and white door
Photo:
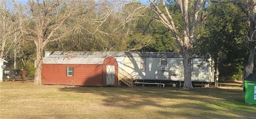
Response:
[[[42,84],[118,85],[118,63],[112,56],[54,56],[43,58]]]

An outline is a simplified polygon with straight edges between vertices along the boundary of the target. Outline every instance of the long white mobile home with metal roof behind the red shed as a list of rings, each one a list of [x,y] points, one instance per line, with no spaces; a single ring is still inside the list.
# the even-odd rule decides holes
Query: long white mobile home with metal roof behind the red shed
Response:
[[[139,82],[184,81],[182,56],[178,52],[45,52],[50,55],[111,55],[118,67],[130,73]],[[214,82],[214,67],[193,55],[191,59],[192,81]],[[209,61],[211,59],[208,59]]]

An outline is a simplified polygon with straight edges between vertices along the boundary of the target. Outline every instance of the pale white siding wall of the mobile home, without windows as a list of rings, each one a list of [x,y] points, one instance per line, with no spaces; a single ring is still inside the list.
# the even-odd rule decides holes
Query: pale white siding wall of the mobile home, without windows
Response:
[[[167,58],[167,70],[162,71],[162,58],[146,58],[146,70],[140,69],[141,58],[122,57],[122,69],[133,75],[133,79],[153,79],[153,80],[172,80],[184,81],[184,68],[182,58]],[[198,67],[201,61],[193,58],[192,81],[213,82],[213,72],[207,63]],[[172,70],[178,71],[178,75],[172,75]]]

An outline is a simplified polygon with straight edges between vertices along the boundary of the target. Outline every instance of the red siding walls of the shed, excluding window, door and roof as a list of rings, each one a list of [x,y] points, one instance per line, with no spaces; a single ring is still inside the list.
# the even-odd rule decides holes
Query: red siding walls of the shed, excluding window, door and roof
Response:
[[[102,65],[43,64],[42,84],[106,86],[106,65],[115,66],[114,85],[118,85],[118,64],[112,56],[106,58]],[[66,76],[66,67],[74,67],[74,76]]]

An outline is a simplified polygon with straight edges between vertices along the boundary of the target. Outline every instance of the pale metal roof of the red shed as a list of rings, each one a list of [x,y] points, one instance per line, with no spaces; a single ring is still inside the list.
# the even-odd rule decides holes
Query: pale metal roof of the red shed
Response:
[[[103,64],[109,55],[50,55],[43,58],[43,64]]]

